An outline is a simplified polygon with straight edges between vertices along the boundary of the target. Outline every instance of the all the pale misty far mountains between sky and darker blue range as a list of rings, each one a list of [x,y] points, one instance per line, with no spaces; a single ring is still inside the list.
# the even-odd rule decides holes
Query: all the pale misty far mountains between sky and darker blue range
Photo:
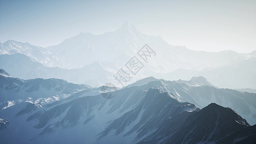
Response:
[[[0,44],[0,68],[23,79],[60,78],[98,87],[116,83],[110,75],[118,72],[133,56],[138,57],[136,53],[145,44],[156,56],[130,84],[149,76],[166,80],[204,76],[220,88],[256,89],[255,52],[206,52],[171,46],[160,36],[140,33],[129,23],[102,35],[80,33],[47,48],[8,40]]]

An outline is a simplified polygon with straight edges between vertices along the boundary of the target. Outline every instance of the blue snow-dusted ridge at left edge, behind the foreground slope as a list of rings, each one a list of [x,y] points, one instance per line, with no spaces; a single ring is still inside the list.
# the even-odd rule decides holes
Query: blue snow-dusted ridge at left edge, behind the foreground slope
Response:
[[[11,77],[0,69],[0,111],[24,101],[41,107],[89,88],[91,87],[88,85],[72,84],[54,78],[22,80]]]

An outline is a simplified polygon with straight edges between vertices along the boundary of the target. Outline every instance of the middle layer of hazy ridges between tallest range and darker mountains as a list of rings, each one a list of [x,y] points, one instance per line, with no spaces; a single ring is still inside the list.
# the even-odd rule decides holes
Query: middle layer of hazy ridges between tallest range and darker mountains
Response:
[[[115,84],[113,75],[120,69],[114,62],[95,62],[80,69],[61,69],[58,67],[45,67],[43,64],[31,60],[24,54],[0,55],[0,69],[4,69],[11,73],[14,77],[22,79],[34,78],[59,78],[75,84],[87,84],[98,87],[105,83]],[[240,64],[235,64],[219,69],[205,70],[205,72],[179,69],[157,77],[175,80],[190,80],[192,77],[204,76],[218,87],[241,88],[256,87],[256,60],[244,60]],[[97,72],[95,72],[97,70]],[[178,75],[175,73],[179,73]],[[234,73],[234,74],[231,74]],[[155,75],[155,74],[153,74]],[[146,75],[139,73],[131,80],[131,83],[138,79],[144,78]]]

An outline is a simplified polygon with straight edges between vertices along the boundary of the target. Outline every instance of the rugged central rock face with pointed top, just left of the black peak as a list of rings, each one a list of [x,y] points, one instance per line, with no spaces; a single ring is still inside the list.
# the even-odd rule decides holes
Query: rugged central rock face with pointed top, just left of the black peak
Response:
[[[134,127],[126,132],[124,136],[128,136],[133,132],[137,132],[135,140],[145,136],[145,133],[152,132],[156,129],[162,120],[169,120],[173,116],[183,112],[184,110],[197,110],[195,105],[190,103],[180,103],[176,99],[171,98],[168,93],[160,93],[158,89],[148,90],[142,102],[133,110],[125,113],[122,117],[114,120],[101,132],[101,137],[106,136],[111,130],[116,130],[115,134],[122,133],[126,126],[129,126],[141,114],[140,120]],[[150,119],[149,119],[150,118]]]

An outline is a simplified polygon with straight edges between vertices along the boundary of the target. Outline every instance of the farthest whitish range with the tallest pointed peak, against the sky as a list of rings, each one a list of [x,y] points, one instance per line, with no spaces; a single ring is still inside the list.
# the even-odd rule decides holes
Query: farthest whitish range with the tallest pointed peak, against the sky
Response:
[[[201,70],[206,67],[225,65],[234,60],[256,57],[253,53],[238,54],[231,50],[205,52],[171,46],[161,37],[142,34],[134,25],[128,23],[123,24],[114,32],[102,35],[80,33],[65,39],[59,45],[47,48],[8,40],[0,44],[0,54],[21,53],[48,67],[73,69],[81,68],[95,61],[115,61],[125,64],[145,44],[148,44],[157,53],[150,66],[164,65],[164,71],[169,72],[178,68]],[[120,57],[122,59],[118,60],[117,58]]]

